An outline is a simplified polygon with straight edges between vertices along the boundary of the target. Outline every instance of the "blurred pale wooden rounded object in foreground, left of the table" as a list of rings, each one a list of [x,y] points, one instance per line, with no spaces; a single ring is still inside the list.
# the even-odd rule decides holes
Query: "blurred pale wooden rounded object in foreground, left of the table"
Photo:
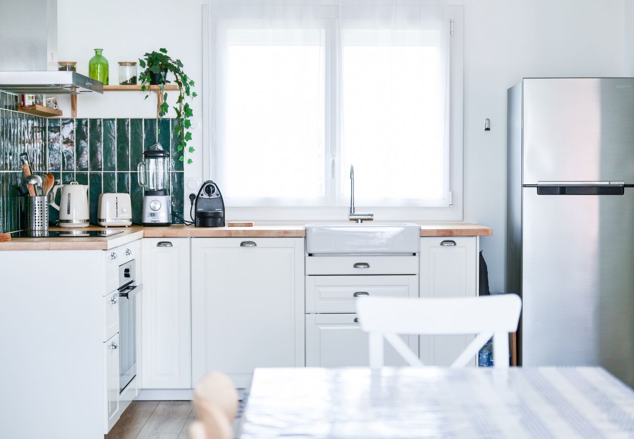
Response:
[[[238,411],[238,392],[230,377],[220,372],[205,375],[194,388],[198,417],[191,425],[195,439],[231,439],[231,422]],[[204,432],[205,436],[200,436]]]

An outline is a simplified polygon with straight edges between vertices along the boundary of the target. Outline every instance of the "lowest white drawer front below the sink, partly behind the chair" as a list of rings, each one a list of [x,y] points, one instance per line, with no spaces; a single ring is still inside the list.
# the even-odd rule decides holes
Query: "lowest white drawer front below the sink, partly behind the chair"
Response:
[[[307,367],[368,367],[368,333],[361,331],[356,314],[306,314]],[[418,336],[401,336],[418,354]],[[385,365],[406,366],[385,342]]]

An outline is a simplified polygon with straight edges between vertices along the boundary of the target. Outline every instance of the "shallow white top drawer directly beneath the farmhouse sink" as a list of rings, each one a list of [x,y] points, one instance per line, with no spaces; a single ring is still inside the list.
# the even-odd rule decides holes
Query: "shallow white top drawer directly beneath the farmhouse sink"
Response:
[[[307,275],[415,275],[418,256],[308,256]]]

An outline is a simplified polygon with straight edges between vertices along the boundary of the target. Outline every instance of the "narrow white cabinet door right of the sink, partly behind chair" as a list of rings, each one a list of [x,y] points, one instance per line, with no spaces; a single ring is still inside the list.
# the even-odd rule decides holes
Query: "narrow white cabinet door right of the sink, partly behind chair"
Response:
[[[477,237],[422,237],[420,297],[477,296],[477,261]],[[420,336],[420,360],[425,365],[448,366],[472,339],[471,335]]]

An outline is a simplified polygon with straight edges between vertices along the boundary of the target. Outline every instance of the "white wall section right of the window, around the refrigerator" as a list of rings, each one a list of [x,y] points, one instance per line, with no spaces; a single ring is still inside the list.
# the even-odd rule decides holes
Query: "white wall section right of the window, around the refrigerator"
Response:
[[[522,77],[626,75],[624,0],[451,3],[465,5],[464,219],[493,228],[481,249],[491,291],[503,291],[507,88]]]

